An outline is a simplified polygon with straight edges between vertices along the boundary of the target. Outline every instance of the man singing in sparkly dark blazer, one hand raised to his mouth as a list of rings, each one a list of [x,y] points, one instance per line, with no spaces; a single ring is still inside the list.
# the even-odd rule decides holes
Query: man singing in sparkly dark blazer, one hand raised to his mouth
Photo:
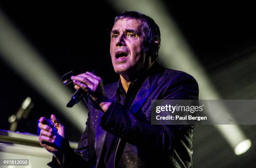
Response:
[[[110,38],[111,60],[120,79],[103,87],[93,73],[72,76],[75,89],[88,92],[89,99],[77,150],[70,148],[64,125],[54,115],[39,120],[39,142],[53,154],[49,165],[192,167],[194,125],[151,125],[151,100],[198,99],[197,82],[187,73],[159,65],[160,30],[148,16],[118,15]]]

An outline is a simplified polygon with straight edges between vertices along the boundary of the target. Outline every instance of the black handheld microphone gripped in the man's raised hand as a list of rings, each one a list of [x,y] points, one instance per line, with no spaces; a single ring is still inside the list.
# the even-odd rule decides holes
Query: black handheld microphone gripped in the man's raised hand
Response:
[[[91,73],[93,73],[96,76],[100,76],[100,72],[98,70],[93,70]],[[61,78],[64,80],[64,85],[72,83],[72,80],[70,79],[71,76],[74,75],[74,73],[71,71],[69,73],[64,74]],[[84,98],[85,95],[88,93],[90,94],[91,90],[88,88],[88,92],[85,92],[82,88],[79,88],[73,95],[71,100],[69,100],[69,103],[67,103],[67,107],[72,108],[75,104],[79,103],[79,101]]]

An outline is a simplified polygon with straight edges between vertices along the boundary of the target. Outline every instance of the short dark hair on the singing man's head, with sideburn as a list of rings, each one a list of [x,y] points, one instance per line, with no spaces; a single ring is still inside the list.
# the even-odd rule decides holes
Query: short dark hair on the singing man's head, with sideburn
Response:
[[[161,38],[159,27],[156,25],[155,21],[142,13],[135,11],[125,11],[115,17],[114,24],[123,18],[141,20],[141,29],[143,30],[144,36],[146,38],[144,43],[144,52],[150,54],[158,61],[159,46],[156,46],[154,42],[158,40],[160,43]]]

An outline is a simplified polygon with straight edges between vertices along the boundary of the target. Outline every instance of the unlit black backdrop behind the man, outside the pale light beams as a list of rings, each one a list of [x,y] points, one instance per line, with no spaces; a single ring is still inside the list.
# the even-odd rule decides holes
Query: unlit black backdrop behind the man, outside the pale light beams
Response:
[[[222,98],[256,99],[256,11],[253,5],[162,2]],[[111,4],[105,1],[87,1],[86,4],[2,1],[0,8],[59,76],[70,70],[82,73],[97,69],[103,72],[104,84],[118,80],[110,60],[109,31],[119,12]],[[161,59],[161,55],[159,57]],[[30,96],[34,107],[28,118],[21,120],[18,131],[36,134],[36,120],[55,113],[67,125],[69,139],[79,140],[80,132],[69,127],[72,124],[59,110],[1,59],[0,70],[0,129],[9,129],[8,117]],[[45,85],[48,84],[46,81]],[[241,125],[241,128],[252,140],[252,147],[239,156],[212,125],[196,128],[195,167],[253,167],[256,127]]]

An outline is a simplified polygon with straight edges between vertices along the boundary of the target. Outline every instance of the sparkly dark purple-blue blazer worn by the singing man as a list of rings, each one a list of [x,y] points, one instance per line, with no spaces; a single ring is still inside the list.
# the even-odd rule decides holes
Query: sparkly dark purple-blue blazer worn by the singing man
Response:
[[[107,131],[120,138],[114,160],[117,168],[192,167],[194,125],[151,125],[151,100],[198,99],[196,80],[157,65],[130,109],[114,103],[117,83],[105,86],[113,101],[110,112],[103,113],[88,103],[86,128],[77,150],[69,148],[64,154],[63,167],[99,167]]]

